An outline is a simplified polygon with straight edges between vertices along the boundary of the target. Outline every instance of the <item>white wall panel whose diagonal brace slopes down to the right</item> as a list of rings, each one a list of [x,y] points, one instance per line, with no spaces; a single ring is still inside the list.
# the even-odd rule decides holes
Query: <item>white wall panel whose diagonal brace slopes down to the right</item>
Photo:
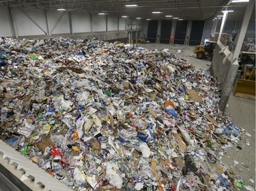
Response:
[[[30,10],[23,10],[27,15],[34,16],[34,12],[30,12]],[[38,14],[40,15],[40,10],[38,10]],[[14,9],[12,10],[14,25],[16,26],[16,31],[18,36],[26,36],[26,35],[45,35],[45,33],[36,26],[21,10]],[[32,18],[33,19],[33,18]],[[35,19],[35,20],[40,20]],[[40,23],[42,24],[42,23]],[[41,27],[41,26],[40,26]],[[45,26],[42,26],[45,27]]]

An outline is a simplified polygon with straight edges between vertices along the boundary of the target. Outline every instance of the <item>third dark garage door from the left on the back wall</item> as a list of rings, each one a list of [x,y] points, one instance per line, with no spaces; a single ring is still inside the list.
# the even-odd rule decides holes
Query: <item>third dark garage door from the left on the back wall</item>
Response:
[[[186,26],[188,25],[188,20],[177,20],[174,44],[184,44],[186,38]]]

